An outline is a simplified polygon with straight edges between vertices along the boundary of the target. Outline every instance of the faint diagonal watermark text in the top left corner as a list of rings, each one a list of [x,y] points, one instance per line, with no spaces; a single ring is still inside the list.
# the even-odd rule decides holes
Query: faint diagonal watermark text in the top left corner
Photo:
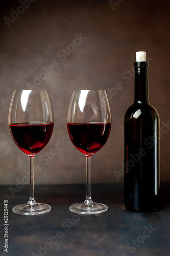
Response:
[[[34,3],[36,0],[20,0],[19,3],[21,5],[19,5],[16,10],[11,9],[11,17],[4,17],[5,23],[7,25],[7,27],[10,27],[10,23],[14,23],[15,20],[17,20],[19,18],[19,16],[21,14],[23,14],[25,12],[26,9],[28,9],[31,5],[31,3]]]

